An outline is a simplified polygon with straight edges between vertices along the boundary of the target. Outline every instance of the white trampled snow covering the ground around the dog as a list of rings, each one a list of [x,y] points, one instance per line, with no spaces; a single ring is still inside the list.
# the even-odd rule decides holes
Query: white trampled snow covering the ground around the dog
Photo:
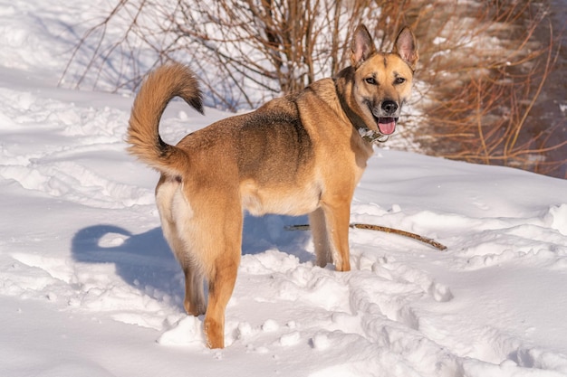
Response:
[[[351,220],[448,249],[351,230],[340,273],[284,231],[305,217],[247,216],[227,347],[208,350],[158,174],[125,152],[132,99],[56,86],[90,3],[46,3],[0,3],[0,375],[567,375],[567,182],[386,149]],[[229,116],[206,114],[173,102],[164,137]]]

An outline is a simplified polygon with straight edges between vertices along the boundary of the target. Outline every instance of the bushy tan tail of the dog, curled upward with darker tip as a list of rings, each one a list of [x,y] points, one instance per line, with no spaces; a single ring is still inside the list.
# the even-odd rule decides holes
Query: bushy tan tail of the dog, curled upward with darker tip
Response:
[[[201,91],[193,71],[179,63],[169,63],[149,73],[139,89],[130,114],[126,141],[128,151],[161,173],[177,175],[187,154],[170,146],[159,136],[159,119],[168,103],[181,97],[201,114]]]

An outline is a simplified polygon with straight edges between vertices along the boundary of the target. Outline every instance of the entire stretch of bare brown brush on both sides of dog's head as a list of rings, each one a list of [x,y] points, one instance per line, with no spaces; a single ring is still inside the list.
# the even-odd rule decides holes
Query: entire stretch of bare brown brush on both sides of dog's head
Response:
[[[93,85],[103,76],[131,90],[153,66],[183,61],[203,79],[209,106],[255,108],[339,71],[352,20],[367,24],[380,50],[404,24],[418,36],[420,84],[404,120],[413,127],[402,134],[408,145],[564,174],[567,152],[557,153],[566,147],[557,140],[564,125],[543,125],[533,110],[559,46],[536,1],[120,0],[83,35],[63,78],[81,86],[95,72]],[[115,54],[120,67],[109,65]],[[560,157],[550,160],[551,151]]]

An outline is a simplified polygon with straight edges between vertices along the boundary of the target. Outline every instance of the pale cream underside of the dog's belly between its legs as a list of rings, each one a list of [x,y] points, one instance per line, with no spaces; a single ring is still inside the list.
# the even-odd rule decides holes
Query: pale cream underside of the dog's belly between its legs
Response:
[[[319,207],[321,190],[316,184],[299,187],[258,187],[254,182],[241,184],[243,209],[254,216],[266,213],[299,216]]]

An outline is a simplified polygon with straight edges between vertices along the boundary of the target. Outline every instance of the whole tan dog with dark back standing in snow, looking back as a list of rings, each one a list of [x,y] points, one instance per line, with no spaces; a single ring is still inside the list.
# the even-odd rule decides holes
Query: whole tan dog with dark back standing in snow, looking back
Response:
[[[209,348],[225,345],[244,211],[309,214],[317,265],[351,269],[352,195],[374,138],[395,131],[417,62],[408,27],[387,53],[376,51],[360,24],[351,66],[335,77],[217,121],[176,146],[159,136],[159,120],[174,97],[203,113],[196,75],[169,63],[146,77],[131,110],[129,151],[161,174],[156,203],[162,230],[185,274],[187,314],[205,315]]]

